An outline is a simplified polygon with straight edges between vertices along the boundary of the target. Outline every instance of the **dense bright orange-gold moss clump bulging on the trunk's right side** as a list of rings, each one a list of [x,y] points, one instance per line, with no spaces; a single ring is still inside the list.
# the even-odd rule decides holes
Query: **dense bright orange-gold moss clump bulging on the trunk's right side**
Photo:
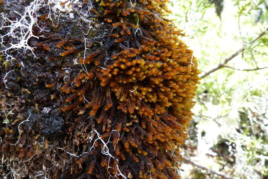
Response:
[[[176,163],[192,115],[198,70],[192,51],[178,39],[181,31],[162,17],[166,3],[140,0],[132,6],[102,0],[108,36],[114,39],[112,59],[108,64],[101,55],[105,49],[89,53],[79,59],[88,72],[61,88],[73,91],[61,110],[78,115],[89,110],[86,115],[94,116],[102,139],[112,141],[109,152],[115,158],[103,156],[100,164],[115,177],[122,172],[134,179],[179,178]],[[83,102],[85,96],[89,103]],[[92,160],[88,174],[97,175],[96,165]]]

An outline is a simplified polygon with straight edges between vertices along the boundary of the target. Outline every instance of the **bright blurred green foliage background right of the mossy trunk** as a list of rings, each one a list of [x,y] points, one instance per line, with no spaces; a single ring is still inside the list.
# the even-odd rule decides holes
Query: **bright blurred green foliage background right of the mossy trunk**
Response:
[[[268,31],[250,45],[268,27],[268,1],[173,0],[170,6],[202,74],[246,47],[201,80],[184,157],[226,178],[268,178]],[[188,162],[181,169],[184,179],[222,178]]]

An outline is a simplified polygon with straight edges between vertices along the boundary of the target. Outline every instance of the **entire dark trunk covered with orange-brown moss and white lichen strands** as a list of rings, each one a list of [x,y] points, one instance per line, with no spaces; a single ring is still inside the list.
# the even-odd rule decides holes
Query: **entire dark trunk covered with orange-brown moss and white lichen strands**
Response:
[[[0,1],[0,176],[179,179],[197,61],[168,0]]]

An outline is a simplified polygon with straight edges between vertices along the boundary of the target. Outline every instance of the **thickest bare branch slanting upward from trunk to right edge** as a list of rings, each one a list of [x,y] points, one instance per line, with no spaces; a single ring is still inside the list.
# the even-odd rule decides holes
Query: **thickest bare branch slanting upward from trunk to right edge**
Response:
[[[208,71],[208,72],[204,73],[203,75],[201,75],[200,78],[203,79],[206,76],[210,75],[211,73],[213,73],[213,72],[215,72],[215,71],[217,71],[217,70],[225,67],[225,64],[227,64],[233,58],[235,58],[236,56],[238,56],[241,52],[245,51],[247,47],[249,47],[252,44],[254,44],[259,38],[261,38],[262,36],[264,36],[267,30],[268,30],[268,27],[262,33],[260,33],[258,37],[256,37],[253,41],[251,41],[246,47],[243,47],[243,48],[239,49],[238,51],[236,51],[230,57],[226,58],[224,61],[222,61],[220,64],[218,64],[215,68],[213,68],[210,71]]]

